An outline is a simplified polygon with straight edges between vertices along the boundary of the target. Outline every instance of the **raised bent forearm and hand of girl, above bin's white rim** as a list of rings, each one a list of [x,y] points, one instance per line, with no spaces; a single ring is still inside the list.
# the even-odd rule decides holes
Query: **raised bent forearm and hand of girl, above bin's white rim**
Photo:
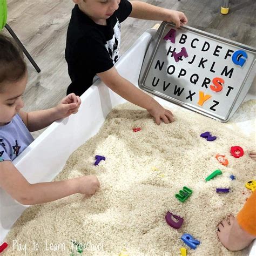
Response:
[[[30,132],[38,131],[49,126],[54,121],[77,113],[81,100],[75,93],[66,96],[59,105],[51,109],[38,110],[33,112],[20,111],[22,120]]]

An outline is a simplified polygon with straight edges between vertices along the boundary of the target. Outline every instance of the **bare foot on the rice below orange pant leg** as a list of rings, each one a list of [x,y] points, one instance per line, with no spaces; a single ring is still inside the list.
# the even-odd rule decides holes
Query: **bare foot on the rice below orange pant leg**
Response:
[[[256,238],[242,230],[233,215],[220,222],[218,225],[218,237],[221,244],[230,251],[242,250]]]

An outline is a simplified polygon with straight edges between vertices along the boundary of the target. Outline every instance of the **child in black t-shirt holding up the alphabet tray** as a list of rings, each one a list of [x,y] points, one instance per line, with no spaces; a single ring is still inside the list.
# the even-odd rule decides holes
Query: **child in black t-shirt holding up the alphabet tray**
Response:
[[[69,23],[65,58],[72,83],[67,93],[82,95],[98,77],[129,102],[146,109],[160,124],[173,121],[171,111],[119,75],[114,63],[119,58],[120,23],[128,16],[187,23],[183,12],[127,0],[73,0],[76,3]]]

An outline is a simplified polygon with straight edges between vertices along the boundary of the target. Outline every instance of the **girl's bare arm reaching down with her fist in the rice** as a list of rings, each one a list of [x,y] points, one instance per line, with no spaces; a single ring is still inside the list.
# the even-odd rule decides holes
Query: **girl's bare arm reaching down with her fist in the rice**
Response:
[[[71,194],[94,194],[99,190],[95,176],[30,184],[11,161],[0,162],[0,187],[23,205],[42,204]]]

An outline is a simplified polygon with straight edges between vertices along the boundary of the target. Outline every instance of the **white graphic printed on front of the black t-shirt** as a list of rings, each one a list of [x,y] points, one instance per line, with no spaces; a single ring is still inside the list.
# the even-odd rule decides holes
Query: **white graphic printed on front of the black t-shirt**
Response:
[[[114,25],[114,35],[112,39],[106,42],[105,48],[109,52],[110,58],[113,60],[113,64],[119,59],[119,49],[121,42],[121,26],[117,19],[116,25]]]

